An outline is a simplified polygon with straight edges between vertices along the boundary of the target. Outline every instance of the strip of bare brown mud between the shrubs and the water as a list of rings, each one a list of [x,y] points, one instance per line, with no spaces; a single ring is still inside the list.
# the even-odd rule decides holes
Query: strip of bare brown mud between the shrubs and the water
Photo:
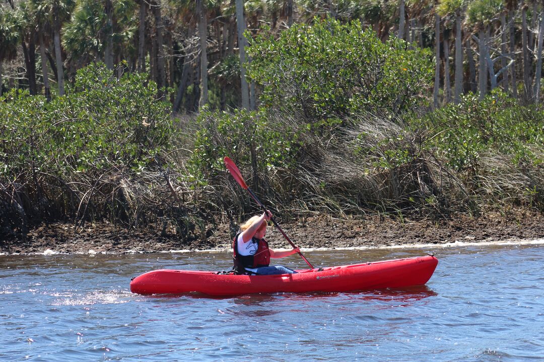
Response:
[[[283,224],[283,230],[300,247],[380,247],[408,244],[443,244],[456,241],[484,242],[544,238],[544,217],[534,211],[518,211],[508,217],[490,213],[450,220],[404,220],[368,217],[364,220],[309,218]],[[288,247],[279,231],[270,227],[267,239],[273,247]],[[230,249],[228,224],[220,224],[206,240],[181,240],[175,235],[131,231],[98,223],[74,232],[73,225],[41,225],[27,240],[0,240],[2,253],[159,252],[170,250]]]

